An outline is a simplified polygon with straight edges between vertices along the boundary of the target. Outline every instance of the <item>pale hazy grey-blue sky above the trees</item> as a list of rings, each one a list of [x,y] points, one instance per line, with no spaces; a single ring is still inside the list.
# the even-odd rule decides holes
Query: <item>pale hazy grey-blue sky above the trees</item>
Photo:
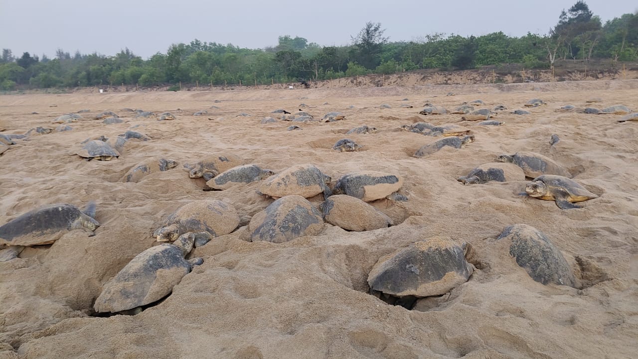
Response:
[[[128,47],[147,58],[195,38],[252,49],[285,34],[346,45],[367,21],[381,22],[391,41],[431,33],[521,36],[547,33],[575,1],[0,0],[0,47],[17,57],[54,57],[58,48],[110,56]],[[603,22],[638,10],[635,0],[586,3]]]

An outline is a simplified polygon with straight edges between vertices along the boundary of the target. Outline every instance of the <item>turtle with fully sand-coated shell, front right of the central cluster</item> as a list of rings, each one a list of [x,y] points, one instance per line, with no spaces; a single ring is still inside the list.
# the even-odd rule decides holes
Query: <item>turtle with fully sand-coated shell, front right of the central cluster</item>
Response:
[[[373,231],[392,225],[385,213],[351,195],[331,195],[320,209],[326,222],[346,231]]]

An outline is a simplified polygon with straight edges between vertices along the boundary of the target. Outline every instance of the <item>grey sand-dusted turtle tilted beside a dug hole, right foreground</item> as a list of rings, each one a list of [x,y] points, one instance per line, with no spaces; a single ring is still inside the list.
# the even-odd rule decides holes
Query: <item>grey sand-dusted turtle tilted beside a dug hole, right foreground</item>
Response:
[[[545,285],[575,287],[574,273],[565,257],[538,229],[527,224],[508,225],[496,240],[510,243],[510,256],[531,279]]]

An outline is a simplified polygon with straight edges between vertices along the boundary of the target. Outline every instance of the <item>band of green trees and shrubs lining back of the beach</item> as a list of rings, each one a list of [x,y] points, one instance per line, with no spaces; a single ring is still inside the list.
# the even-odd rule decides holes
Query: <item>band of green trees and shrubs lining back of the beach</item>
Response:
[[[551,68],[556,61],[638,59],[638,13],[602,24],[579,0],[563,10],[547,34],[512,37],[433,33],[410,42],[390,42],[380,23],[367,22],[345,46],[321,47],[299,36],[279,36],[278,45],[245,49],[232,44],[193,40],[171,45],[148,59],[129,49],[114,56],[73,56],[59,49],[53,59],[3,49],[0,89],[73,88],[78,86],[155,86],[165,84],[271,84],[299,79],[325,80],[368,73],[419,69],[466,70],[484,65],[522,63]]]

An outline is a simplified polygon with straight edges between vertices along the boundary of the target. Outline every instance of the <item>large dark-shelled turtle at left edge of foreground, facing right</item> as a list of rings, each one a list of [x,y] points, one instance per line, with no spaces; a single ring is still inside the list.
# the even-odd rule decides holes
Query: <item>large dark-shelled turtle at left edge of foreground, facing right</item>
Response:
[[[100,227],[100,223],[94,219],[95,212],[93,201],[87,204],[84,211],[68,203],[41,206],[1,225],[0,245],[29,247],[51,244],[76,229],[89,231],[93,236],[93,232]],[[4,256],[7,256],[6,252]],[[7,259],[15,256],[7,256]]]

